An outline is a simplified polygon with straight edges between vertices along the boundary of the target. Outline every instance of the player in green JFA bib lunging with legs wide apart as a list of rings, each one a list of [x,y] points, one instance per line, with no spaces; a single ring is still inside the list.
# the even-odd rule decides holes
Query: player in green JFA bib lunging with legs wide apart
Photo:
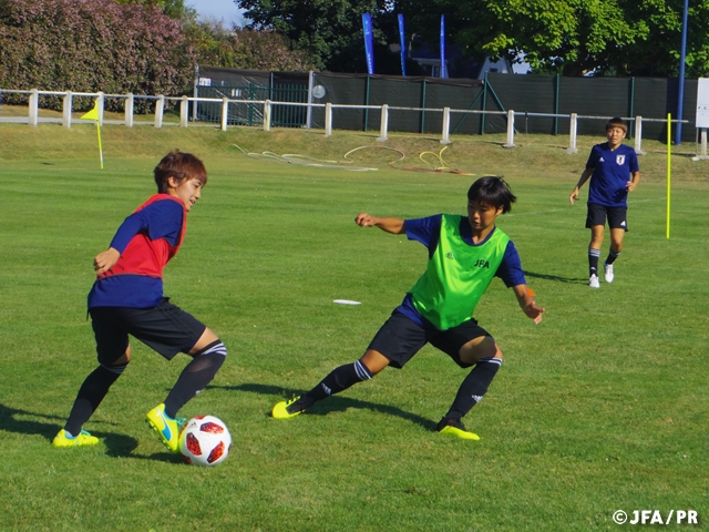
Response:
[[[492,282],[500,277],[514,290],[522,311],[535,324],[544,308],[527,289],[520,255],[495,219],[508,213],[516,197],[500,177],[477,180],[467,191],[467,216],[439,214],[399,219],[359,214],[361,227],[379,227],[404,234],[429,249],[427,269],[379,329],[364,355],[340,366],[307,393],[278,402],[271,416],[298,416],[316,401],[371,379],[388,366],[402,368],[428,342],[445,352],[461,368],[473,368],[436,430],[466,440],[480,437],[465,429],[465,416],[487,391],[502,365],[495,339],[473,319],[473,310]]]

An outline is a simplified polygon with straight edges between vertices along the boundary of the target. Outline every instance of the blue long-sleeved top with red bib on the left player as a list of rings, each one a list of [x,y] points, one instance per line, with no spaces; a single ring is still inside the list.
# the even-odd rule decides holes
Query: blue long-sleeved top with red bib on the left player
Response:
[[[187,209],[169,194],[155,194],[125,218],[111,247],[121,257],[99,276],[89,293],[89,308],[156,306],[163,297],[163,268],[179,250]]]

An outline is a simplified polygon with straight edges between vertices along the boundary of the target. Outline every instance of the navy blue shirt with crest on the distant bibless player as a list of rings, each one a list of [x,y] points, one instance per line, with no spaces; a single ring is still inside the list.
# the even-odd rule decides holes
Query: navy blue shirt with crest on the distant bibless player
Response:
[[[590,150],[586,168],[594,168],[588,185],[588,203],[606,207],[627,207],[628,181],[639,172],[638,156],[630,146],[610,150],[607,142]]]

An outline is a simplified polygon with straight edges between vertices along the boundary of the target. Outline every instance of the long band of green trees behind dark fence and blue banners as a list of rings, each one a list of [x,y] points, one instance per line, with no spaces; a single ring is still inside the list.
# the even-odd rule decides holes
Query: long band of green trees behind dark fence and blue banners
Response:
[[[235,0],[255,28],[288,35],[320,69],[362,71],[361,13],[380,47],[409,35],[438,48],[446,39],[471,57],[518,61],[564,75],[676,76],[684,0]],[[709,75],[709,0],[690,2],[687,75]],[[378,69],[379,71],[379,69]]]

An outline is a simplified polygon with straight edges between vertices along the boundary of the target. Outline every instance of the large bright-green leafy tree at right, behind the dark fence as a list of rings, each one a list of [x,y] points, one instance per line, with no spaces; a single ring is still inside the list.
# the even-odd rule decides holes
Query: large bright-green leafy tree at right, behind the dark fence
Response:
[[[709,73],[709,2],[689,16],[688,75]],[[450,40],[476,57],[526,54],[536,72],[677,75],[684,0],[398,0],[412,31]]]

